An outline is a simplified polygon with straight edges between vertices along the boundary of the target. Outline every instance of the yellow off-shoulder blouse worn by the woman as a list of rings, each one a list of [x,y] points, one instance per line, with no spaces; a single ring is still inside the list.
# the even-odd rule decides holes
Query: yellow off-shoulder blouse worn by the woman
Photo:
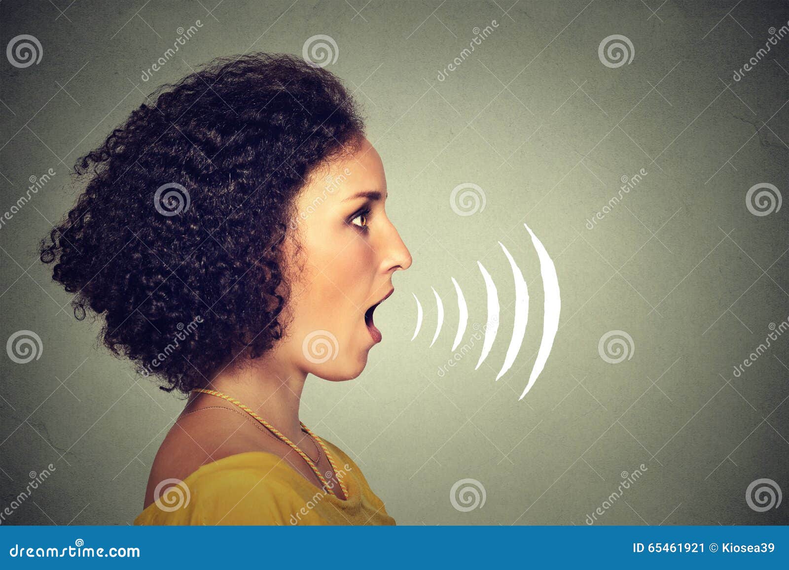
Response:
[[[395,524],[357,464],[323,443],[344,476],[346,501],[313,485],[275,453],[249,451],[201,465],[165,488],[134,524]]]

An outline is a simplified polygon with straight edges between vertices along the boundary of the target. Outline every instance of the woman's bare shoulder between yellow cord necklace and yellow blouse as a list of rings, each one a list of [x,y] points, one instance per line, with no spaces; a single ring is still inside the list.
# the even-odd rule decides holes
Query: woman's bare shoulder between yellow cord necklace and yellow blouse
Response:
[[[170,427],[151,466],[144,508],[166,479],[186,479],[204,464],[248,451],[281,454],[282,443],[228,408],[203,408],[182,414]]]

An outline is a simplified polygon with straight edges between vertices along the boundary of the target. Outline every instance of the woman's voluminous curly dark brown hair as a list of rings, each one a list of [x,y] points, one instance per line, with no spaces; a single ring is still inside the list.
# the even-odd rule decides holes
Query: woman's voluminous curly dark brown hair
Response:
[[[41,261],[76,293],[77,319],[103,318],[115,356],[189,393],[286,334],[279,246],[294,199],[364,132],[326,69],[289,54],[216,58],[77,159],[87,185],[41,240]]]

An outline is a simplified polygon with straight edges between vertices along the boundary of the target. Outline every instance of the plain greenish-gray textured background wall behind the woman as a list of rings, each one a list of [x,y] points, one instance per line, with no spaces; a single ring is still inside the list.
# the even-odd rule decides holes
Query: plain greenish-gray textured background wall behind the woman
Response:
[[[43,47],[38,65],[0,61],[0,212],[31,177],[56,172],[0,229],[0,341],[32,330],[43,345],[29,363],[0,359],[0,508],[31,471],[55,468],[6,523],[130,523],[181,407],[96,348],[98,323],[77,322],[37,262],[37,240],[77,194],[74,159],[158,84],[219,55],[301,54],[316,34],[335,39],[328,69],[365,106],[387,211],[414,261],[379,310],[384,341],[367,369],[351,382],[311,377],[302,419],[360,464],[395,520],[584,524],[623,471],[645,464],[599,523],[789,522],[786,497],[767,512],[746,503],[756,479],[789,491],[789,332],[732,374],[789,317],[789,206],[763,216],[746,207],[754,184],[787,197],[789,38],[732,79],[769,28],[787,25],[789,3],[513,2],[0,3],[3,49],[20,34]],[[199,32],[141,80],[196,20]],[[492,20],[492,34],[438,80]],[[613,34],[633,43],[629,65],[598,58]],[[588,229],[641,168],[638,187]],[[460,216],[449,196],[466,182],[486,202]],[[555,260],[563,307],[548,365],[518,401],[542,330],[522,222]],[[524,271],[533,310],[518,360],[495,382],[514,300],[498,241]],[[477,341],[442,377],[458,319],[451,277],[469,327],[485,319],[477,260],[509,310],[486,365],[474,371]],[[447,309],[432,348],[431,287]],[[413,342],[412,292],[425,307]],[[632,337],[629,360],[601,357],[611,330]],[[485,502],[461,512],[450,490],[466,478]]]

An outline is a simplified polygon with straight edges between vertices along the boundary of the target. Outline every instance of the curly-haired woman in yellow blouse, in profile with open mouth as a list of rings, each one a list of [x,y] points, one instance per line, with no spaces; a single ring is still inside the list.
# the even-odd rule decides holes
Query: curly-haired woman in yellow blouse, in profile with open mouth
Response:
[[[136,524],[394,524],[299,419],[308,374],[356,378],[372,311],[411,256],[356,103],[286,54],[165,85],[77,161],[88,182],[40,245],[74,313],[188,395]],[[144,412],[141,412],[144,421]]]

